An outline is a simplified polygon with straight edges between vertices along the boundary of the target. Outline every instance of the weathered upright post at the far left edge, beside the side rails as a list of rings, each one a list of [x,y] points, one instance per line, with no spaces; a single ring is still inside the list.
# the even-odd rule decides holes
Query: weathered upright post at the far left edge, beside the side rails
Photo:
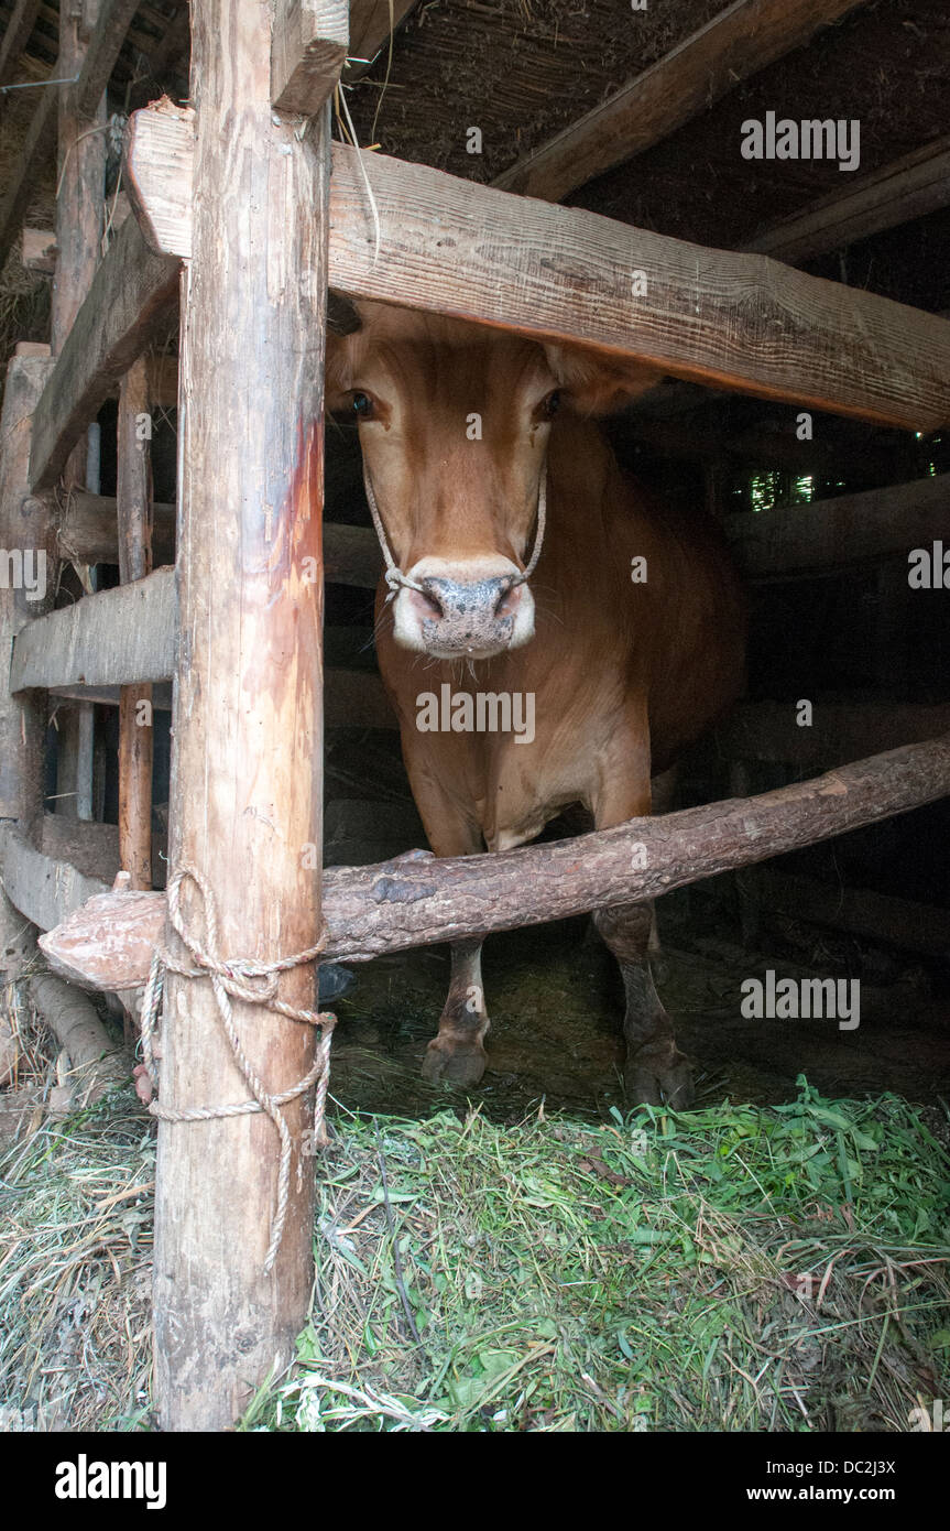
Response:
[[[9,694],[9,661],[14,638],[31,617],[52,606],[55,534],[49,505],[29,493],[29,447],[32,415],[52,361],[46,357],[14,357],[6,372],[0,416],[0,548],[20,550],[44,566],[46,591],[28,600],[24,588],[0,586],[0,822],[15,824],[24,834],[38,828],[43,816],[43,744],[46,697]],[[8,943],[21,931],[23,917],[0,893],[0,968]]]

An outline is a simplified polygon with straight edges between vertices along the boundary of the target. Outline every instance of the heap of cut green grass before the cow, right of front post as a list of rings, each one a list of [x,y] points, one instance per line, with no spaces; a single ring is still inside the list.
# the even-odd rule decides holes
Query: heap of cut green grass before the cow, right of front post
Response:
[[[353,1121],[254,1427],[906,1430],[950,1386],[950,1162],[893,1096]]]

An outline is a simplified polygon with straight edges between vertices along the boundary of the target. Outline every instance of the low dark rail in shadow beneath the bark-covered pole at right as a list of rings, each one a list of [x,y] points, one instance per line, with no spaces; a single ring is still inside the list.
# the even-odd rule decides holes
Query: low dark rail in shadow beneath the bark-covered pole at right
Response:
[[[922,957],[945,960],[950,952],[950,909],[892,899],[870,888],[844,888],[815,877],[789,876],[773,867],[760,867],[753,886],[756,897],[769,909],[791,920],[829,925],[835,931],[889,942]]]

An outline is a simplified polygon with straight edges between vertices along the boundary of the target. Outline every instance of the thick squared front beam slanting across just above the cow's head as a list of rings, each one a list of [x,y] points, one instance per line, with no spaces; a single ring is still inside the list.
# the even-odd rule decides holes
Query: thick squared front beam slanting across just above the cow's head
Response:
[[[190,127],[138,112],[127,149],[150,239],[191,248]],[[176,135],[171,158],[165,150]],[[150,142],[151,139],[151,142]],[[379,217],[367,202],[370,181]],[[330,286],[802,407],[932,430],[950,323],[765,256],[704,250],[427,165],[333,147]],[[153,211],[148,213],[148,208]],[[486,230],[491,236],[486,236]],[[632,295],[633,274],[641,273]]]

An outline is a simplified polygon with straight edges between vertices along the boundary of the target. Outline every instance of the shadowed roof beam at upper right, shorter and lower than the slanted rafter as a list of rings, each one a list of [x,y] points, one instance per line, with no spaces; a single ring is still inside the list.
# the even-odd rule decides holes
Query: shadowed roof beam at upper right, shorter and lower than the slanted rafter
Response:
[[[800,265],[950,205],[950,135],[769,224],[743,250]]]

